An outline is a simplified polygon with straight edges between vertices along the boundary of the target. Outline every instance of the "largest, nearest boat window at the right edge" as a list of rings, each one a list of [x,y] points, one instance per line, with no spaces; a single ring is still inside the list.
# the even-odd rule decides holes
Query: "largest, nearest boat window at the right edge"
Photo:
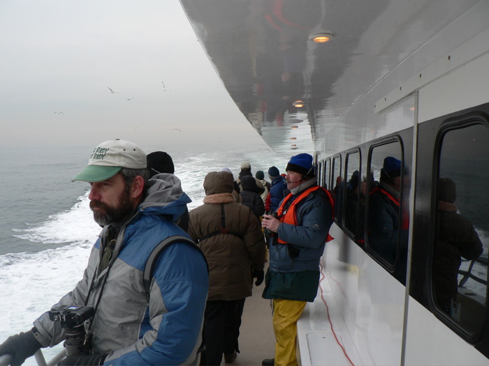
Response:
[[[487,305],[489,129],[465,125],[440,139],[432,290],[443,316],[477,333]]]

